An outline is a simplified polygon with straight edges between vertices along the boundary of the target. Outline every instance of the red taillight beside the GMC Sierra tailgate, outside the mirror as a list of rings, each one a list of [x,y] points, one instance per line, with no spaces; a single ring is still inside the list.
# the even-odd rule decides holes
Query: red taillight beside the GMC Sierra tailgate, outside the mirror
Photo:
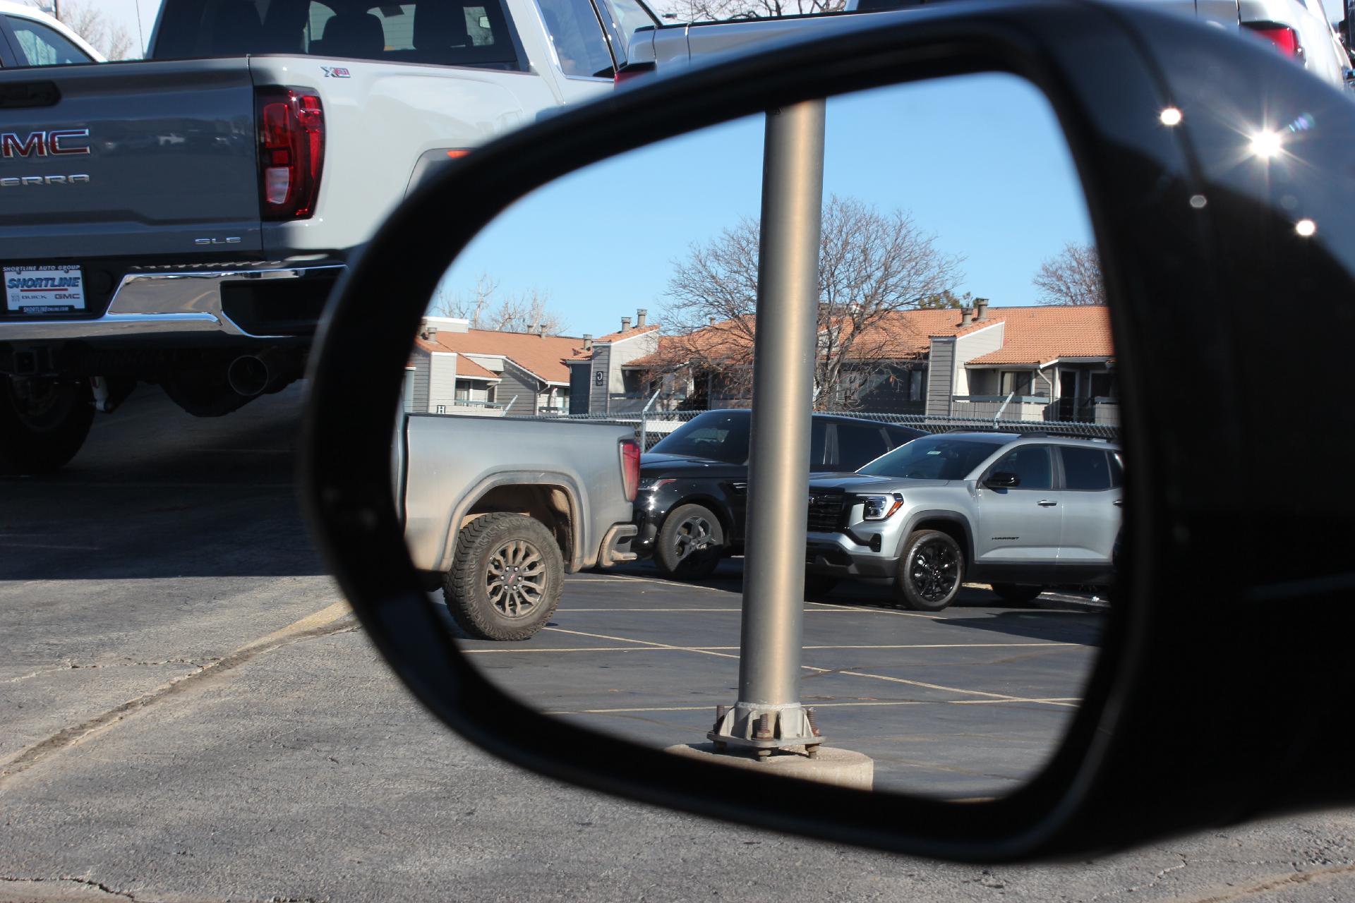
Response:
[[[287,88],[262,88],[256,106],[263,218],[306,219],[316,211],[325,162],[325,112],[320,97]]]

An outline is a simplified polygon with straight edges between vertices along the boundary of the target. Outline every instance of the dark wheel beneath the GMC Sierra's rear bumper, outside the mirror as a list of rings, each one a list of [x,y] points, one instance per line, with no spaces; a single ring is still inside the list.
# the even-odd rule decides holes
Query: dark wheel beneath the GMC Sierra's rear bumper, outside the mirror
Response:
[[[50,474],[76,456],[93,405],[84,383],[0,376],[0,474]]]

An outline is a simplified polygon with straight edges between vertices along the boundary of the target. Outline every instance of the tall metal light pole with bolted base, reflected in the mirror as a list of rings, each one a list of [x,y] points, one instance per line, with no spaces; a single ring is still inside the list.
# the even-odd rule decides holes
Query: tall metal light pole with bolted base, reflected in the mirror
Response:
[[[752,440],[738,701],[717,709],[717,750],[804,746],[822,736],[799,704],[809,435],[818,332],[824,100],[767,114],[753,345]]]

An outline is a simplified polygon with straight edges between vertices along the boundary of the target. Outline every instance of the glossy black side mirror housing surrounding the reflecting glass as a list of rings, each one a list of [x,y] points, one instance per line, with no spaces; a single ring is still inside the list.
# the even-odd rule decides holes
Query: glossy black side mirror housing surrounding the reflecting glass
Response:
[[[1312,472],[1346,466],[1350,417],[1339,408],[1333,412],[1320,393],[1294,394],[1274,374],[1301,368],[1317,376],[1316,383],[1324,376],[1335,383],[1348,359],[1355,306],[1333,299],[1348,298],[1355,288],[1355,181],[1347,167],[1348,149],[1355,145],[1355,107],[1264,47],[1134,5],[1018,0],[935,4],[859,16],[867,22],[856,19],[833,16],[824,20],[821,38],[724,58],[717,66],[694,66],[672,79],[642,80],[485,145],[421,187],[371,240],[331,303],[310,359],[313,383],[302,454],[309,516],[373,643],[431,712],[505,759],[630,799],[818,839],[965,860],[1075,857],[1249,816],[1355,801],[1355,774],[1348,766],[1355,726],[1331,715],[1355,701],[1355,669],[1348,667],[1347,648],[1355,634],[1355,605],[1350,604],[1355,574],[1340,555],[1308,556],[1298,563],[1289,555],[1238,555],[1238,537],[1264,536],[1276,524],[1304,524],[1312,535],[1351,535],[1355,487],[1328,486],[1320,494],[1262,493],[1245,504],[1225,489],[1244,485],[1274,456],[1293,448],[1304,449]],[[989,686],[973,697],[985,705],[957,707],[978,709],[995,701],[1046,705],[1066,727],[1056,747],[1015,789],[999,793],[955,800],[925,792],[870,792],[859,785],[779,777],[776,764],[760,764],[751,754],[738,768],[709,757],[672,755],[633,736],[604,735],[598,730],[599,707],[533,703],[486,678],[474,665],[476,655],[449,630],[440,597],[431,598],[427,592],[427,571],[416,567],[405,542],[406,525],[421,528],[427,521],[405,523],[404,500],[396,494],[400,483],[389,477],[390,421],[411,367],[411,340],[458,255],[482,230],[503,222],[500,215],[528,194],[566,184],[566,176],[625,152],[767,111],[780,115],[818,99],[993,70],[1026,80],[1047,99],[1072,152],[1108,302],[1091,313],[1108,317],[1114,336],[1114,348],[1100,348],[1095,357],[1102,368],[1112,357],[1122,399],[1115,410],[1092,405],[1080,414],[1091,425],[1110,417],[1119,424],[1126,463],[1122,555],[1129,567],[1119,575],[1112,594],[1117,604],[1104,628],[1089,643],[1099,654],[1087,678],[1068,697],[999,699]],[[1008,122],[1005,112],[996,110],[989,118]],[[906,120],[906,115],[892,119]],[[1003,157],[1028,150],[1019,123],[1019,116],[1008,122],[1011,139],[1001,142]],[[916,137],[920,144],[938,139],[939,131]],[[762,149],[757,134],[749,146]],[[999,153],[995,146],[978,146],[984,160]],[[720,164],[725,162],[721,157]],[[661,208],[675,194],[699,187],[702,179],[687,176],[691,165],[671,161],[664,169],[637,168],[612,191],[633,207]],[[854,160],[839,158],[836,165],[852,171]],[[897,171],[893,176],[913,180],[908,184],[916,190],[934,179],[930,172]],[[764,184],[772,181],[764,176]],[[642,195],[641,203],[635,203],[635,194]],[[599,204],[599,196],[606,192],[581,194],[573,206],[558,207],[560,219],[545,229],[522,226],[516,257],[505,265],[539,257],[556,241],[553,236],[573,227],[572,211],[584,206],[623,208]],[[970,206],[991,210],[988,200]],[[450,210],[455,215],[449,217]],[[793,210],[782,213],[778,222],[805,219]],[[596,242],[592,279],[584,290],[615,282],[629,292],[631,287],[612,272],[623,257],[610,244],[618,230],[580,232]],[[778,253],[795,257],[785,250]],[[778,283],[787,296],[802,295],[805,286],[813,291],[816,283],[813,257],[801,252],[797,260],[798,268],[774,268],[782,275],[794,271],[794,280]],[[762,292],[766,279],[755,282]],[[1283,299],[1286,310],[1324,311],[1322,328],[1305,330],[1304,343],[1275,343],[1276,299]],[[1041,310],[1050,309],[1031,307],[1028,318],[1045,315]],[[1226,318],[1221,320],[1220,311],[1226,311]],[[961,315],[965,320],[958,325]],[[967,389],[955,379],[965,372],[961,352],[969,355],[976,374],[993,376],[999,366],[1024,367],[1037,379],[1047,378],[1060,387],[1064,382],[1047,370],[1051,361],[1058,364],[1057,355],[1033,347],[1030,355],[1008,360],[996,344],[984,344],[997,334],[995,324],[985,321],[982,311],[973,315],[970,321],[967,310],[957,311],[948,337],[943,336],[948,341],[936,344],[931,357],[927,380],[940,383],[942,375],[948,380],[940,399],[944,410],[927,409],[919,417],[938,432],[955,431],[957,441],[963,431],[991,431],[995,417],[1047,420],[1051,405],[1004,408],[1000,398],[963,394],[984,390],[978,375]],[[936,324],[950,324],[950,317],[951,311],[942,310]],[[787,332],[794,326],[794,340],[809,353],[768,361],[759,352],[751,366],[747,359],[737,363],[755,374],[755,384],[766,379],[764,367],[774,368],[774,379],[790,375],[798,380],[808,417],[808,371],[816,359],[813,315],[780,326]],[[1018,328],[1009,326],[1014,333]],[[767,340],[764,332],[757,329],[759,343]],[[921,333],[924,340],[934,334]],[[627,329],[612,341],[619,347],[629,337]],[[539,336],[530,338],[534,348],[543,347]],[[444,348],[447,361],[454,353],[467,359],[480,353],[469,344],[463,352]],[[560,359],[539,357],[541,367]],[[1257,360],[1271,366],[1256,367]],[[508,372],[507,366],[489,371],[481,364],[462,370],[458,363],[449,380],[499,380],[497,397],[511,398],[526,390],[507,389],[507,380],[526,386],[522,380],[533,372]],[[554,383],[573,389],[562,379]],[[1068,384],[1081,384],[1081,376]],[[1191,398],[1209,398],[1210,403],[1182,403],[1183,386],[1190,386]],[[583,395],[587,386],[579,389]],[[966,417],[961,409],[973,413]],[[1285,429],[1256,431],[1256,410],[1283,410]],[[606,429],[618,431],[615,417],[610,420]],[[526,441],[493,444],[478,436],[474,425],[488,420],[466,422],[470,432],[459,445],[467,456],[480,454],[477,460],[528,447]],[[570,425],[579,432],[585,426]],[[488,436],[488,426],[482,432]],[[608,455],[599,460],[611,479],[621,479],[617,436],[608,433],[607,439]],[[767,432],[762,441],[772,439],[799,441],[791,431]],[[984,441],[978,433],[969,439]],[[753,441],[756,445],[759,439]],[[1220,455],[1221,447],[1229,454]],[[1072,459],[1066,456],[1065,475],[1075,472]],[[542,460],[541,468],[547,463]],[[767,477],[756,470],[756,454],[753,464],[751,506],[757,504],[759,481]],[[427,467],[424,472],[447,471]],[[481,472],[466,479],[482,481]],[[919,481],[916,493],[931,493],[947,482]],[[912,493],[908,486],[901,489],[905,500]],[[785,498],[795,502],[795,514],[804,519],[804,487],[785,493]],[[840,487],[817,502],[810,498],[810,505],[818,504],[809,513],[818,519],[820,532],[843,525],[844,514],[835,508],[840,498]],[[488,536],[495,524],[507,524],[522,512],[564,516],[572,510],[564,491],[558,497],[550,491],[504,493],[497,501],[501,517],[473,520],[458,509],[449,513],[449,523],[454,529],[474,527]],[[989,542],[995,533],[972,529],[951,514],[944,512],[925,528],[897,537],[894,548],[904,550],[900,559],[927,581],[915,593],[913,607],[936,605],[932,615],[894,617],[893,612],[889,623],[898,623],[897,630],[973,628],[963,617],[947,620],[935,612],[948,604],[947,581],[954,579],[959,563],[977,560],[969,547]],[[699,527],[702,519],[694,516],[690,523]],[[705,521],[705,535],[714,535],[718,524],[709,517]],[[780,533],[775,531],[785,524],[764,527],[762,535],[778,536],[782,546],[774,556],[776,566],[759,570],[749,565],[747,578],[760,593],[779,596],[797,615],[806,604],[797,592],[804,588],[806,540],[805,532],[797,535],[795,529],[804,523],[787,520],[790,528]],[[913,521],[900,517],[898,523]],[[997,539],[1022,529],[1022,524],[1007,527]],[[757,531],[757,525],[748,531],[749,540]],[[554,535],[537,531],[523,543],[554,543],[557,535],[565,536],[564,544],[581,569],[583,540],[592,544],[595,536],[576,542],[564,529]],[[690,535],[701,533],[694,528]],[[1107,535],[1114,537],[1115,532]],[[444,532],[439,542],[451,540]],[[446,550],[431,546],[435,552]],[[837,555],[841,548],[836,544],[822,551]],[[1220,567],[1220,562],[1229,566]],[[898,569],[889,574],[897,575]],[[501,567],[500,577],[496,592],[508,582]],[[992,579],[997,585],[1014,579],[1005,585],[1014,598],[1031,589],[1022,586],[1019,575]],[[516,592],[516,571],[512,582]],[[638,585],[618,590],[623,593],[635,600],[627,609],[631,615],[644,609],[646,597]],[[1245,616],[1221,620],[1220,608],[1202,600],[1226,600]],[[1293,612],[1301,616],[1290,616]],[[707,607],[687,620],[705,625],[725,613]],[[877,624],[885,617],[881,615]],[[780,620],[774,627],[798,623]],[[1028,636],[1024,630],[1004,635]],[[1282,642],[1276,642],[1276,631]],[[561,640],[561,651],[615,655],[606,643],[615,644],[622,634],[584,634],[576,631]],[[702,643],[654,640],[642,655],[645,665],[660,655],[698,655],[698,670],[730,667],[730,643],[737,636],[737,630],[729,628]],[[993,636],[997,634],[985,639],[991,643]],[[783,631],[782,639],[801,651],[797,630]],[[916,640],[898,642],[892,646],[893,658],[882,663],[878,674],[892,688],[889,700],[867,692],[875,685],[856,697],[869,697],[869,704],[878,707],[873,711],[893,705],[909,718],[921,718],[927,705],[936,704],[934,693],[946,688],[909,665],[908,655],[917,646]],[[505,661],[488,654],[478,658],[496,666]],[[1267,667],[1255,667],[1256,661],[1266,661]],[[741,666],[737,676],[729,673],[718,689],[759,681],[760,674],[745,673],[751,670]],[[816,680],[828,670],[805,665],[805,673]],[[608,711],[633,711],[625,703],[618,699]],[[627,723],[671,726],[691,708],[690,696],[675,695],[665,707],[630,715]],[[705,700],[701,708],[705,713]],[[1022,718],[1014,720],[1024,723],[1028,711],[1019,709]],[[738,715],[721,707],[709,734],[709,720],[684,726],[686,734],[676,742],[720,739]],[[831,726],[825,726],[829,736],[822,739],[812,719],[787,724],[759,716],[747,727],[741,739],[749,750],[775,745],[787,730],[799,731],[795,736],[805,741],[806,758],[818,753],[821,743],[832,750]]]

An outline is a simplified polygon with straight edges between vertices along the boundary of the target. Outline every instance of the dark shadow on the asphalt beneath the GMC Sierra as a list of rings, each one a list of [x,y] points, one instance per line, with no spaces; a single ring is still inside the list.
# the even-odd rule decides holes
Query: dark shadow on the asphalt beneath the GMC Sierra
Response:
[[[195,418],[140,386],[64,470],[0,479],[0,579],[327,573],[294,489],[302,387]]]

